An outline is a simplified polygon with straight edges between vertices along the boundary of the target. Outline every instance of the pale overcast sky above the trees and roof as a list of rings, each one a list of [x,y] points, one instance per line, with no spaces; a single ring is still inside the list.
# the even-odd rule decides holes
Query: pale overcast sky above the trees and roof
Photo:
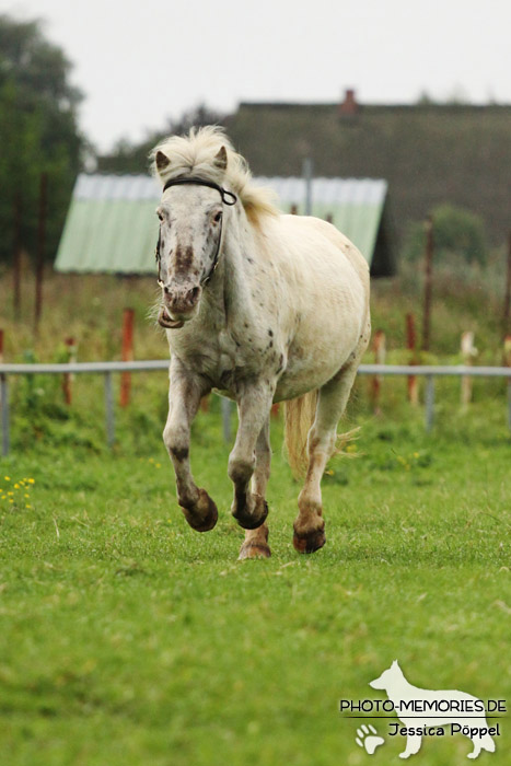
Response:
[[[100,150],[204,102],[511,103],[510,0],[0,0],[45,20]]]

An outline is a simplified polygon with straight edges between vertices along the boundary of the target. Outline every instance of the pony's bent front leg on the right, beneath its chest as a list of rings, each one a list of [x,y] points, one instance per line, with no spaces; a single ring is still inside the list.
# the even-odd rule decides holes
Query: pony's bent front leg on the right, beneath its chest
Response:
[[[237,404],[240,426],[234,448],[229,456],[229,477],[234,484],[232,514],[245,530],[255,530],[260,526],[268,515],[266,500],[258,494],[264,491],[266,481],[257,481],[254,492],[249,491],[248,485],[256,465],[257,441],[259,438],[266,441],[262,431],[268,419],[271,401],[272,391],[268,385],[251,386],[243,393]]]

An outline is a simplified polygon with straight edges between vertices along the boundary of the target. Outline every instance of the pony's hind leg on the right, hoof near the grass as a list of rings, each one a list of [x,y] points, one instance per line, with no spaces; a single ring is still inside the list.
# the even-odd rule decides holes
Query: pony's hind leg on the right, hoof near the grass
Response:
[[[316,416],[307,439],[309,467],[298,498],[299,514],[293,525],[293,545],[301,554],[312,554],[325,545],[321,480],[335,452],[337,423],[345,411],[357,368],[358,359],[320,390]]]

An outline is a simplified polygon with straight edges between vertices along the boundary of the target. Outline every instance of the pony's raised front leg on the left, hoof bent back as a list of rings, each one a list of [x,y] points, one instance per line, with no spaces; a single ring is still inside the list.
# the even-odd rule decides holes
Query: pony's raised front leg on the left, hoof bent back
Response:
[[[218,520],[214,502],[205,489],[199,489],[191,476],[189,463],[190,426],[208,393],[206,383],[187,371],[175,358],[171,362],[169,417],[163,441],[174,465],[177,498],[185,519],[197,532],[212,530]]]

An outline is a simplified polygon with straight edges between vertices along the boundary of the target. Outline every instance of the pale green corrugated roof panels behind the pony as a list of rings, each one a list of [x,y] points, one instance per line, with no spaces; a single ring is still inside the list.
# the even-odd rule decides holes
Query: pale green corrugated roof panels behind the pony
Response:
[[[304,212],[303,178],[254,178],[271,187],[281,209]],[[371,264],[385,202],[385,181],[315,178],[312,211],[332,217]],[[58,271],[153,274],[160,199],[148,176],[80,175],[60,240]]]

